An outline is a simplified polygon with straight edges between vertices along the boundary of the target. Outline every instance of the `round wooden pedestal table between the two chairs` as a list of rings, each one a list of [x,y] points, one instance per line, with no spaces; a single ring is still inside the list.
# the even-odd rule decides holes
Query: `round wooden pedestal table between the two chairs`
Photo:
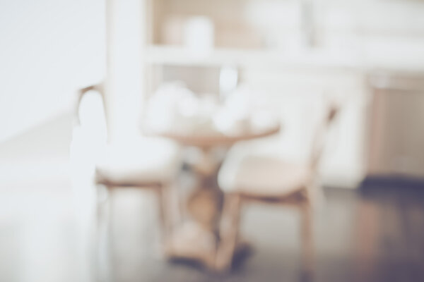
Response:
[[[218,188],[217,176],[219,162],[211,160],[210,155],[216,147],[231,147],[237,142],[267,137],[280,131],[275,122],[237,133],[194,131],[192,133],[177,130],[162,130],[152,135],[170,138],[185,147],[197,147],[203,153],[203,159],[196,169],[200,180],[186,200],[185,206],[189,219],[176,228],[165,245],[165,253],[170,258],[195,259],[210,269],[215,264],[216,250],[219,244],[219,221],[223,204],[223,192]],[[206,164],[205,164],[206,163]]]

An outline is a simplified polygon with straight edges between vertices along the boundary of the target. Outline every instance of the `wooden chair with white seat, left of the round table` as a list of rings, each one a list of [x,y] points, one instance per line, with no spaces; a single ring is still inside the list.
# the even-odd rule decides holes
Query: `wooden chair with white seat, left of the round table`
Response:
[[[101,84],[79,90],[76,127],[83,126],[80,109],[88,93],[100,95],[102,110],[105,112],[105,92]],[[166,240],[171,228],[167,195],[182,164],[179,146],[163,138],[140,136],[136,140],[117,145],[105,144],[100,152],[95,163],[95,184],[104,185],[110,195],[117,188],[143,188],[155,192],[158,197],[160,227]]]

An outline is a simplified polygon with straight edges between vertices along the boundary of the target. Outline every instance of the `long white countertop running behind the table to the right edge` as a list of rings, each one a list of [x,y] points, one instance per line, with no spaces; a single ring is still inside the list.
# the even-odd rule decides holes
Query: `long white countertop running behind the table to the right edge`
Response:
[[[216,48],[193,54],[184,47],[153,45],[146,61],[170,66],[223,66],[283,68],[341,68],[351,71],[424,71],[424,40],[420,42],[367,42],[358,49],[302,48],[297,50]]]

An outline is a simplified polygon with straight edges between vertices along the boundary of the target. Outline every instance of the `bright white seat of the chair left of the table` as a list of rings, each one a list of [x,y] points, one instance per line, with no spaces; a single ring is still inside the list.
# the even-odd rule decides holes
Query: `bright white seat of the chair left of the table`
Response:
[[[107,146],[96,164],[96,178],[113,185],[167,183],[175,177],[179,164],[180,149],[175,142],[141,137]]]

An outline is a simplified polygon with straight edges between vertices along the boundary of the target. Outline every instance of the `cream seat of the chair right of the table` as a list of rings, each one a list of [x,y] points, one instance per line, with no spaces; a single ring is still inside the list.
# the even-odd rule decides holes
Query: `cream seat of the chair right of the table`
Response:
[[[220,168],[218,183],[224,192],[254,197],[283,197],[305,188],[310,169],[277,157],[229,156]]]

